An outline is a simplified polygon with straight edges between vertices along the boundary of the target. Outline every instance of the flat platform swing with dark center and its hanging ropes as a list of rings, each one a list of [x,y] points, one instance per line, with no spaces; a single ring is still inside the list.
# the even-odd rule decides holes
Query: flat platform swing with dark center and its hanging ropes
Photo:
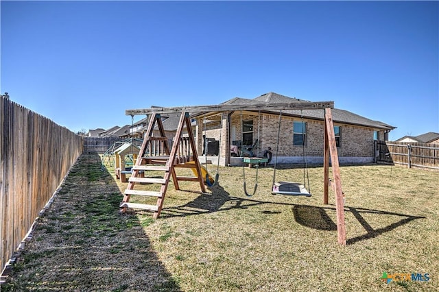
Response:
[[[300,110],[300,112],[302,112]],[[277,131],[277,143],[276,143],[276,158],[274,158],[274,171],[273,171],[273,182],[272,182],[272,195],[292,195],[292,196],[305,196],[311,197],[309,189],[309,176],[308,176],[308,165],[305,151],[305,129],[303,127],[303,114],[302,116],[302,151],[303,151],[303,184],[300,182],[276,182],[276,165],[277,165],[277,156],[279,149],[279,136],[281,133],[281,117],[282,112],[279,114],[279,125]],[[306,169],[306,178],[305,180],[305,169]],[[307,189],[308,182],[308,189]]]

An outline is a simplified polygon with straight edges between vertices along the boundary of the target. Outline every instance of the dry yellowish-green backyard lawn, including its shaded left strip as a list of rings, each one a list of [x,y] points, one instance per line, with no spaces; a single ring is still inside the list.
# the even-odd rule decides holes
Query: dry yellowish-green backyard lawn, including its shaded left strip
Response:
[[[127,184],[99,163],[82,156],[73,167],[2,291],[439,290],[437,172],[341,167],[342,247],[332,191],[323,204],[322,167],[308,169],[312,197],[271,195],[271,167],[259,169],[257,193],[246,197],[242,168],[221,167],[220,186],[208,193],[195,182],[180,182],[185,191],[170,184],[152,220],[143,211],[119,215]],[[281,167],[276,180],[303,180],[302,168]],[[256,169],[245,171],[250,189]],[[428,273],[429,281],[387,284],[383,272]]]

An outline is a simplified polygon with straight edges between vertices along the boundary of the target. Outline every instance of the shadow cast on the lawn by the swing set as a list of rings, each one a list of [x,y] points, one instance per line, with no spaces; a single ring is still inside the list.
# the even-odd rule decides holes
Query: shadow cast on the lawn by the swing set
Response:
[[[294,215],[294,219],[297,223],[302,226],[306,226],[313,229],[318,230],[329,230],[335,231],[337,230],[337,224],[329,217],[327,211],[335,212],[335,207],[319,207],[319,206],[309,206],[303,204],[289,204],[289,203],[280,203],[280,202],[269,202],[269,201],[261,201],[252,198],[246,197],[232,197],[229,193],[224,191],[222,186],[213,186],[210,188],[211,194],[200,193],[200,196],[195,198],[193,201],[188,202],[187,204],[171,207],[171,208],[163,208],[161,217],[169,218],[169,217],[185,217],[192,215],[200,215],[211,212],[219,212],[226,211],[231,209],[244,209],[251,208],[252,206],[259,206],[263,204],[272,204],[272,205],[283,205],[283,206],[292,206],[292,212]],[[262,211],[263,214],[272,215],[278,213],[277,211]],[[348,239],[346,243],[348,245],[352,245],[359,241],[364,241],[367,239],[375,238],[385,232],[389,232],[394,230],[399,226],[403,226],[404,224],[410,223],[410,221],[416,219],[424,219],[425,217],[406,215],[395,212],[387,212],[381,210],[372,210],[366,208],[353,208],[353,207],[345,207],[345,212],[351,212],[353,216],[359,221],[361,226],[366,230],[366,234],[361,236],[353,237],[352,239]],[[372,213],[377,215],[392,215],[398,217],[404,217],[401,220],[391,223],[384,228],[374,229],[370,224],[361,216],[361,213]]]

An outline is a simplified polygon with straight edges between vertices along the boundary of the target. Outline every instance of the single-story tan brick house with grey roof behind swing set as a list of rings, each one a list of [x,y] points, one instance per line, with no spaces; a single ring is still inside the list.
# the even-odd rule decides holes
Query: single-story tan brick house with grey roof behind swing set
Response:
[[[254,99],[235,97],[223,104],[243,105],[261,102],[283,103],[304,101],[277,93],[266,93]],[[194,134],[198,154],[203,153],[203,136],[220,141],[221,165],[235,165],[230,157],[230,145],[252,145],[254,155],[261,157],[271,147],[275,156],[278,146],[278,163],[301,163],[304,151],[308,163],[323,162],[324,110],[285,110],[281,115],[279,143],[277,145],[279,114],[275,111],[235,111],[191,113],[195,122]],[[374,140],[388,140],[395,127],[381,121],[372,121],[347,110],[332,110],[335,140],[340,163],[368,163],[374,161]],[[221,136],[221,138],[220,138]]]

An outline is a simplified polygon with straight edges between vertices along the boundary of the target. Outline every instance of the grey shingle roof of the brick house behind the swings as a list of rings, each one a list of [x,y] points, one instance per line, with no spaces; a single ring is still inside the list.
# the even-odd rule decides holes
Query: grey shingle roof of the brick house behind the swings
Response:
[[[257,104],[260,102],[266,103],[283,103],[283,102],[294,102],[294,101],[306,101],[303,99],[296,99],[295,97],[287,97],[285,95],[279,95],[278,93],[265,93],[259,97],[254,99],[244,99],[241,97],[235,97],[233,99],[229,99],[222,104]],[[272,112],[272,111],[270,111]],[[279,112],[276,112],[279,113]],[[282,114],[287,114],[289,116],[295,117],[303,117],[307,119],[324,119],[324,111],[323,110],[284,110]],[[388,125],[381,121],[374,121],[371,119],[367,119],[366,117],[361,117],[358,114],[354,114],[353,112],[349,112],[347,110],[340,110],[334,108],[332,110],[333,121],[338,123],[349,123],[353,125],[366,125],[368,127],[376,127],[378,129],[383,130],[393,130],[395,127],[392,125]]]

